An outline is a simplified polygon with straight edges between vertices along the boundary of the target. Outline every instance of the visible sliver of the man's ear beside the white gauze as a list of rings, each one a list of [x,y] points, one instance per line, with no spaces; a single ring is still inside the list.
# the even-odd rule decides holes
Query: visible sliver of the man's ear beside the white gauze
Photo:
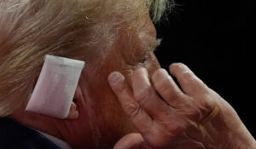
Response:
[[[75,95],[73,97],[73,102],[71,103],[70,110],[68,112],[67,119],[69,120],[75,120],[79,117],[79,110],[77,108],[77,100],[79,100],[79,97],[81,96],[81,88],[78,85]]]

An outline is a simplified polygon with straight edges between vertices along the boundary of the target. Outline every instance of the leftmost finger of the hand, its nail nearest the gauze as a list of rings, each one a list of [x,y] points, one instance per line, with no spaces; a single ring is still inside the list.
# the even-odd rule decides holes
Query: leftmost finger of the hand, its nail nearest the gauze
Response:
[[[125,113],[137,129],[145,133],[151,129],[153,120],[147,112],[134,99],[132,91],[125,81],[125,77],[119,72],[112,72],[108,77],[108,82],[113,92],[118,97]]]

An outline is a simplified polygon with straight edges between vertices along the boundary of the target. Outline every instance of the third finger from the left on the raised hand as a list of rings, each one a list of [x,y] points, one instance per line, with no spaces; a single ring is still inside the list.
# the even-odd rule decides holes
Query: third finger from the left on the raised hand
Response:
[[[183,97],[185,95],[183,91],[178,88],[165,69],[160,68],[155,71],[152,76],[152,82],[154,83],[154,88],[169,105],[177,108],[181,106],[181,103],[184,103],[185,98]]]

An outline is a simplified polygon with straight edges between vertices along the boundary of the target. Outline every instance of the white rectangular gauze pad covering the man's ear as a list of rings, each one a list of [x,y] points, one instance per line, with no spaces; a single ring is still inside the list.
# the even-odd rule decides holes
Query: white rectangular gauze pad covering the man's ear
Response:
[[[84,68],[84,61],[46,55],[26,110],[66,118]]]

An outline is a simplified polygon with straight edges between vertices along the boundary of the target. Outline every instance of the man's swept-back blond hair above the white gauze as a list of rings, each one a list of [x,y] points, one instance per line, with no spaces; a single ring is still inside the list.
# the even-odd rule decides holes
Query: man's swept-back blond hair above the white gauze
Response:
[[[145,2],[147,12],[140,9]],[[156,22],[166,6],[166,0],[1,0],[0,117],[26,104],[45,54],[88,62],[91,47],[106,37],[114,42],[117,26],[137,26],[131,20],[148,10]]]

